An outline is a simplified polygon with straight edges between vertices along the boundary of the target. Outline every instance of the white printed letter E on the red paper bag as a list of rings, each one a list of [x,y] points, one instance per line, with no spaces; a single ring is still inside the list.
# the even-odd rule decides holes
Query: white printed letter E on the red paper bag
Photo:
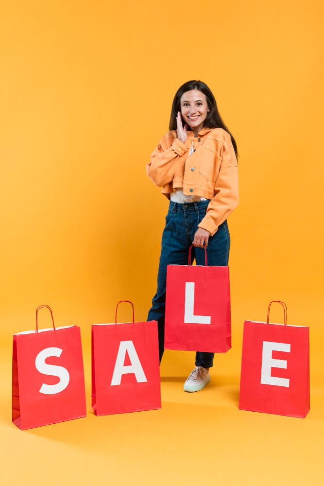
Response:
[[[271,376],[271,368],[287,369],[287,361],[274,360],[272,357],[273,351],[290,353],[290,344],[263,341],[261,383],[264,385],[287,386],[289,388],[289,378],[278,378],[276,376]]]

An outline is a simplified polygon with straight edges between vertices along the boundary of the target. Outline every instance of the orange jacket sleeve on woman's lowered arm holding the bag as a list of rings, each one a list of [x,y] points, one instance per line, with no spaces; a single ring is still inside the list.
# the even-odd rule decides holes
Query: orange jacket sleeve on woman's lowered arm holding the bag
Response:
[[[222,145],[222,162],[215,182],[215,196],[207,206],[199,227],[213,236],[229,214],[239,204],[238,161],[230,136]]]

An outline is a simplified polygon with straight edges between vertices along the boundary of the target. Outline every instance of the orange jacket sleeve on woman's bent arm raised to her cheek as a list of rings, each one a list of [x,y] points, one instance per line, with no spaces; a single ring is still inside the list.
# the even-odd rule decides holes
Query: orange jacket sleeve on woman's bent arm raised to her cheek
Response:
[[[146,164],[146,174],[154,184],[161,187],[172,181],[177,164],[188,147],[178,138],[172,139],[164,135],[150,156]]]

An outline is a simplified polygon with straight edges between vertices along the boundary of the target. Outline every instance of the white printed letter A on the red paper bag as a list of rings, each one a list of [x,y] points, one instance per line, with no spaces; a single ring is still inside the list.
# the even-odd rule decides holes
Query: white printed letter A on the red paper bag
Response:
[[[124,365],[126,351],[128,352],[129,359],[131,360],[132,363],[129,366]],[[137,356],[133,341],[120,341],[113,378],[111,380],[111,385],[120,385],[122,375],[127,375],[129,373],[135,374],[137,383],[147,382],[144,370]]]

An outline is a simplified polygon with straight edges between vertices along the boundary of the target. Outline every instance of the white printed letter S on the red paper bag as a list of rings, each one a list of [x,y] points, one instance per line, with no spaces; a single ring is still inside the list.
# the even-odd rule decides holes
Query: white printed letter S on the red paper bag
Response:
[[[47,347],[40,351],[35,359],[35,366],[39,373],[43,375],[51,375],[59,377],[60,381],[55,385],[47,385],[43,383],[40,387],[39,392],[45,395],[54,395],[55,393],[60,393],[66,389],[68,382],[70,381],[70,375],[68,374],[67,368],[63,366],[56,366],[55,364],[45,363],[46,358],[50,356],[56,356],[59,358],[61,356],[62,349],[59,347]]]

